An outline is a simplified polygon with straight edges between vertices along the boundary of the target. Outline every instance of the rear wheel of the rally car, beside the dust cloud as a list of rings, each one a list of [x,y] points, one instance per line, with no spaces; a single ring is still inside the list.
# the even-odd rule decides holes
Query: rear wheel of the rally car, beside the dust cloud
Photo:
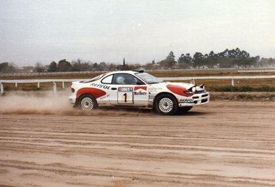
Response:
[[[92,111],[98,108],[96,99],[92,95],[82,95],[78,100],[78,108],[83,111]]]

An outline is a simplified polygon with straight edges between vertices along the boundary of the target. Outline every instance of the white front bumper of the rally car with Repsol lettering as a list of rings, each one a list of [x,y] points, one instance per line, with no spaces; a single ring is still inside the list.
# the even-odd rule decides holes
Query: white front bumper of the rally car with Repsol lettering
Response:
[[[191,99],[182,99],[179,101],[179,107],[198,106],[209,103],[209,92],[194,94]]]

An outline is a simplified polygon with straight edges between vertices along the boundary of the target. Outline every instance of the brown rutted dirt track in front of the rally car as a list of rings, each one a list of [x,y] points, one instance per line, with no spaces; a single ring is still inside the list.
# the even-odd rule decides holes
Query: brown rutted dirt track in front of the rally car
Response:
[[[275,186],[275,102],[147,110],[2,111],[0,186]]]

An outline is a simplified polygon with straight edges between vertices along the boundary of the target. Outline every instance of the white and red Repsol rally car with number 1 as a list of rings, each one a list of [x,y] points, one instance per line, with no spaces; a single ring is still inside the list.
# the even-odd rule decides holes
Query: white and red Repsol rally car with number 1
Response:
[[[209,102],[204,85],[164,82],[142,70],[108,72],[88,81],[73,82],[71,91],[70,103],[84,111],[106,105],[140,106],[173,115]]]

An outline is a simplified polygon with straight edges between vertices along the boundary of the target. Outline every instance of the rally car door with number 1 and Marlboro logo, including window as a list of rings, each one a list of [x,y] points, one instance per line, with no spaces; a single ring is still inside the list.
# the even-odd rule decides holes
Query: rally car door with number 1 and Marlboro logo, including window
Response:
[[[114,74],[110,102],[116,105],[140,106],[148,104],[148,88],[132,74]]]

